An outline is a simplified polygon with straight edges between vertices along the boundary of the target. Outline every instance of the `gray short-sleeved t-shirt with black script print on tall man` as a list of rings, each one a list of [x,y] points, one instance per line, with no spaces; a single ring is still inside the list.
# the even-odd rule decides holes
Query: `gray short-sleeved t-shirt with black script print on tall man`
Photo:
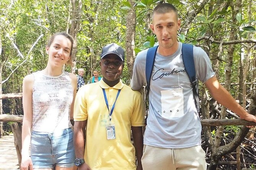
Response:
[[[192,84],[181,55],[182,43],[170,56],[157,53],[150,80],[149,113],[144,144],[160,148],[189,148],[201,144],[201,123],[194,104]],[[197,80],[205,83],[215,75],[210,59],[200,47],[193,48]],[[134,63],[131,88],[146,84],[147,50]]]

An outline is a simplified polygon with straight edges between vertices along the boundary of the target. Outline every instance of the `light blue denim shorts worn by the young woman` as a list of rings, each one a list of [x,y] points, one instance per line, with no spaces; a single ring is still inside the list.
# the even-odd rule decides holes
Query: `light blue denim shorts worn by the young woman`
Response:
[[[33,168],[73,167],[75,151],[71,128],[54,133],[33,131],[31,134]]]

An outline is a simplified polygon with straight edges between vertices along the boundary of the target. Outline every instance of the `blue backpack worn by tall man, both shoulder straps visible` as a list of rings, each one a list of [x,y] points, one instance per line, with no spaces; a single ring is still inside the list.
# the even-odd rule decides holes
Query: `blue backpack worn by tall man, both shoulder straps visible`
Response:
[[[146,58],[146,81],[147,81],[147,95],[146,98],[149,94],[149,88],[150,88],[150,77],[152,75],[152,71],[153,71],[153,66],[154,66],[154,61],[155,61],[155,56],[157,54],[157,48],[158,45],[152,48],[149,48],[147,51],[147,58]],[[197,113],[199,112],[199,96],[196,90],[196,70],[195,70],[195,64],[194,64],[194,55],[193,55],[193,45],[190,44],[182,44],[182,59],[183,59],[183,63],[184,63],[184,67],[186,70],[186,73],[188,74],[189,80],[192,83],[192,87],[193,87],[193,95],[195,98],[195,105],[197,108]],[[147,108],[147,102],[146,102],[146,108]],[[147,111],[147,109],[146,109]],[[147,116],[146,116],[147,119]],[[145,120],[146,120],[145,119]]]

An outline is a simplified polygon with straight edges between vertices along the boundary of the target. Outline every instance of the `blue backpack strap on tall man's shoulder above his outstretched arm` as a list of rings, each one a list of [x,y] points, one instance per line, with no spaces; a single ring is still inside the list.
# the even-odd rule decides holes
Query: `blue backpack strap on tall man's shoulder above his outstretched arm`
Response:
[[[199,112],[200,106],[199,106],[199,96],[196,90],[197,80],[196,80],[196,69],[194,64],[193,45],[183,43],[181,51],[182,51],[182,59],[183,59],[185,70],[188,74],[190,82],[192,83],[192,87],[193,87],[192,91],[193,91],[194,98],[196,100],[195,104],[196,104],[197,112]]]

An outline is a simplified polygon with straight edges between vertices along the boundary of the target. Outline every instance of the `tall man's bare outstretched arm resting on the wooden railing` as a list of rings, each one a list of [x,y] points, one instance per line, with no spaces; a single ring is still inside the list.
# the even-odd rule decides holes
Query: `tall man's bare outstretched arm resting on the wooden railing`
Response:
[[[235,101],[230,93],[224,87],[222,87],[222,85],[220,85],[215,76],[208,79],[204,84],[218,103],[235,112],[237,115],[239,115],[240,119],[256,122],[256,117],[246,112],[246,110]]]

